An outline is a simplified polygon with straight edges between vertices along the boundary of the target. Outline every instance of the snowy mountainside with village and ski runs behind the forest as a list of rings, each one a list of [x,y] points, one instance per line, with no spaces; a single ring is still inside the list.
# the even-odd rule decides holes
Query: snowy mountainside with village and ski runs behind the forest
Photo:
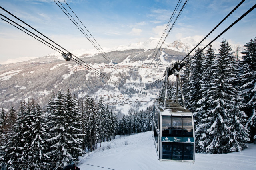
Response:
[[[104,49],[111,63],[97,53],[96,49],[72,51],[79,59],[117,82],[120,87],[74,61],[66,62],[59,53],[19,63],[2,64],[0,107],[9,109],[13,104],[18,109],[21,101],[31,98],[46,107],[52,93],[58,90],[66,92],[69,88],[78,98],[86,95],[96,100],[104,98],[116,112],[128,113],[129,109],[146,109],[152,105],[161,85],[146,90],[145,83],[162,77],[167,66],[183,59],[196,45],[192,37],[187,37],[170,44],[163,43],[158,55],[153,55],[158,43],[159,39],[150,38],[146,42]]]

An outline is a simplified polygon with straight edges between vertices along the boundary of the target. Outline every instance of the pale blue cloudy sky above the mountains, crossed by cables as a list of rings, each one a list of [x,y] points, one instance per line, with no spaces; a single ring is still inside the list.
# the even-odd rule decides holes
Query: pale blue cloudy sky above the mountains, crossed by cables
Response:
[[[59,1],[67,10],[69,9],[64,0]],[[181,4],[184,4],[184,1]],[[56,2],[58,3],[57,0]],[[160,38],[178,0],[66,0],[66,2],[104,50],[104,48],[144,42],[150,37]],[[239,3],[240,0],[189,0],[165,42],[172,43],[189,36],[199,42]],[[209,36],[208,40],[214,39],[254,4],[255,0],[246,0]],[[94,49],[54,0],[0,0],[0,6],[71,52],[77,49]],[[69,12],[72,13],[70,10]],[[14,19],[2,9],[0,13]],[[245,45],[255,37],[256,9],[216,41],[220,42],[224,38],[230,43]],[[0,51],[0,64],[25,61],[55,52],[2,19],[0,19]]]

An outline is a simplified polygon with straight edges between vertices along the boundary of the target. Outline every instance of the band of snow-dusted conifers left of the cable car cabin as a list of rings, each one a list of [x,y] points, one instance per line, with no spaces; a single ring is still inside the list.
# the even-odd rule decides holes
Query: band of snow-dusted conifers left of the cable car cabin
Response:
[[[70,159],[77,163],[79,156],[116,135],[150,130],[146,113],[130,112],[118,120],[103,98],[78,101],[69,89],[52,94],[45,110],[33,99],[21,102],[18,110],[11,106],[1,111],[0,162],[10,170],[62,169]]]

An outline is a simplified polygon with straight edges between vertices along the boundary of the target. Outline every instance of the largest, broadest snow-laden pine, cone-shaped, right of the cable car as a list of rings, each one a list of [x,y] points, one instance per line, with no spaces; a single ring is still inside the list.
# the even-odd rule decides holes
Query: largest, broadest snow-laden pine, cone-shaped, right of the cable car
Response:
[[[226,41],[222,40],[217,60],[214,64],[212,87],[208,92],[208,103],[212,104],[207,113],[207,137],[211,139],[206,152],[211,154],[240,151],[248,139],[244,127],[244,112],[240,110],[239,97],[236,96],[234,56]],[[236,127],[234,127],[236,125]],[[241,140],[242,139],[242,140]]]

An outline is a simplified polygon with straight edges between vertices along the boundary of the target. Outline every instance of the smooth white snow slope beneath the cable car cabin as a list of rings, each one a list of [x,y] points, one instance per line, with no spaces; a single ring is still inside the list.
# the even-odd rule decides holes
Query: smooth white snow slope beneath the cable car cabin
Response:
[[[101,146],[97,151],[80,158],[78,167],[81,170],[104,170],[105,168],[115,170],[256,170],[256,145],[254,144],[248,144],[249,147],[242,152],[196,154],[194,164],[159,162],[151,131],[121,136],[113,141],[104,142]]]

